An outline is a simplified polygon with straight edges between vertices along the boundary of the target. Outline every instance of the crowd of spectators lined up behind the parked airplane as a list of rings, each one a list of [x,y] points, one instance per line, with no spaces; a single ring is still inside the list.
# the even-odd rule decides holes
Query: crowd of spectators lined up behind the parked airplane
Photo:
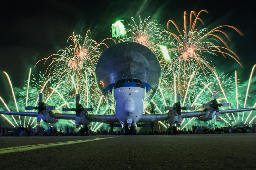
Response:
[[[48,127],[45,129],[42,126],[37,126],[36,128],[32,128],[31,126],[29,127],[23,127],[23,126],[3,126],[0,127],[1,133],[0,136],[95,136],[95,135],[124,135],[124,130],[116,130],[116,131],[111,131],[109,130],[104,130],[103,127],[100,128],[100,130],[92,131],[91,129],[89,130],[84,130],[83,127],[79,129],[79,131],[74,131],[73,127],[66,127],[65,129],[60,128],[59,131],[57,127]],[[63,131],[64,130],[64,131]],[[218,127],[214,126],[212,128],[204,127],[204,126],[199,126],[199,125],[193,125],[191,128],[184,127],[183,129],[177,128],[176,126],[170,126],[167,128],[166,131],[138,131],[135,129],[135,134],[136,135],[176,135],[176,134],[222,134],[222,133],[255,133],[256,132],[256,124],[252,124],[250,126],[249,124],[244,125],[241,124],[241,126],[228,126],[228,127]],[[88,133],[88,134],[87,134]],[[131,134],[131,131],[129,131],[129,134]]]

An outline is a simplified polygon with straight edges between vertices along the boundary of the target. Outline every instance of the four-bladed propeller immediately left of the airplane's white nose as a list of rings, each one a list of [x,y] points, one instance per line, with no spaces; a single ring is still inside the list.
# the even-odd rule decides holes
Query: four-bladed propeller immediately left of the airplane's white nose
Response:
[[[62,108],[62,111],[75,111],[76,112],[76,128],[79,126],[79,113],[82,111],[93,111],[93,108],[84,108],[80,102],[80,94],[76,95],[76,108]]]

